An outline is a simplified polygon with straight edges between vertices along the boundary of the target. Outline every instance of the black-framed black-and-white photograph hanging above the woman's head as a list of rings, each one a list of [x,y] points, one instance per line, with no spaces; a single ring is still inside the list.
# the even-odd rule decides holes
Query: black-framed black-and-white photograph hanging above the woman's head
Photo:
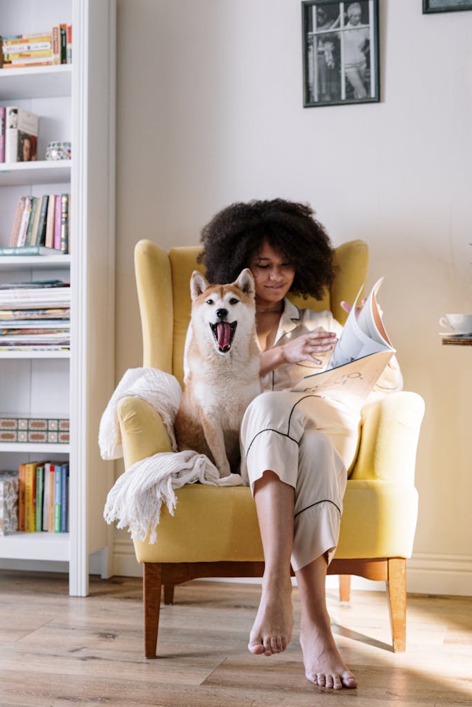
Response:
[[[378,102],[378,0],[304,0],[301,13],[304,107]]]

